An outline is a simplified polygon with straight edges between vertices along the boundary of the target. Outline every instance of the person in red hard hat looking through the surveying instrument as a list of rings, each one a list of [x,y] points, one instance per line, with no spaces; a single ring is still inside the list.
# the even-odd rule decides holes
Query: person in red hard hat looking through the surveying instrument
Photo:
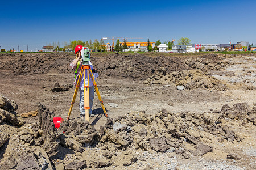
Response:
[[[83,46],[82,45],[77,45],[75,48],[75,54],[76,54],[76,58],[70,63],[70,66],[72,69],[76,69],[75,70],[75,81],[73,82],[73,84],[76,86],[79,75],[81,73],[81,67],[82,67],[82,60],[81,60],[81,50],[82,50]],[[98,77],[98,73],[96,73],[96,70],[93,69],[93,65],[92,62],[89,61],[88,63],[90,65],[90,69],[92,70],[93,73],[93,77],[97,78]],[[85,70],[88,71],[88,70]],[[87,74],[87,72],[85,73]],[[85,109],[84,109],[84,81],[85,84],[88,83],[88,78],[86,77],[85,79],[81,79],[80,81],[80,85],[79,85],[79,92],[80,92],[80,100],[79,100],[79,109],[80,109],[80,117],[83,121],[85,121]],[[94,99],[94,86],[93,86],[93,80],[92,78],[89,76],[89,105],[90,105],[90,109],[89,109],[89,116],[93,117],[94,114],[92,114],[92,106],[93,106],[93,99]]]

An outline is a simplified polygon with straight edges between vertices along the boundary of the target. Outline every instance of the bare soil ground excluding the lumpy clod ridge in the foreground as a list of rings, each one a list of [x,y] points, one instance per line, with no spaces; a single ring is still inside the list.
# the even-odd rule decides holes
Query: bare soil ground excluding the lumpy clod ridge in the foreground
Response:
[[[163,108],[172,113],[212,113],[214,110],[220,111],[225,104],[232,107],[237,103],[247,103],[253,109],[256,103],[256,55],[202,56],[92,54],[92,63],[100,71],[96,81],[108,116],[114,119],[138,111],[151,115]],[[69,88],[68,91],[52,91],[52,88],[55,83],[67,86],[73,83],[73,70],[68,66],[73,57],[75,56],[72,54],[55,53],[22,56],[1,54],[0,94],[18,104],[18,117],[22,113],[35,111],[38,109],[37,103],[42,103],[49,111],[55,113],[55,117],[66,119],[75,87]],[[196,64],[190,64],[191,61],[196,61]],[[31,65],[33,62],[35,65]],[[26,65],[22,66],[22,63]],[[201,64],[204,67],[201,67]],[[214,69],[209,65],[214,65]],[[160,67],[164,67],[164,73]],[[220,80],[226,88],[216,90],[215,87],[221,83],[213,83],[212,87],[196,86],[178,90],[178,85],[186,87],[185,84],[174,80],[173,76],[168,74],[175,71],[180,73],[183,70],[200,70],[208,76],[209,81]],[[163,80],[167,75],[170,79]],[[154,80],[158,82],[154,83]],[[79,94],[71,113],[71,120],[80,120],[78,103]],[[118,107],[110,107],[109,103],[118,104]],[[93,113],[95,116],[90,117],[89,122],[99,130],[100,126],[105,125],[107,118],[102,114],[97,95],[94,98]],[[38,122],[38,117],[22,119],[26,124]],[[253,169],[256,163],[255,125],[249,123],[241,126],[240,122],[236,121],[232,124],[230,126],[235,133],[243,138],[242,142],[220,143],[212,140],[208,143],[214,147],[213,152],[203,156],[191,156],[189,159],[175,152],[139,149],[136,154],[144,156],[144,160],[138,159],[137,162],[122,168]],[[226,159],[226,155],[230,153],[239,155],[241,159]],[[116,167],[118,168],[118,165],[109,168]]]

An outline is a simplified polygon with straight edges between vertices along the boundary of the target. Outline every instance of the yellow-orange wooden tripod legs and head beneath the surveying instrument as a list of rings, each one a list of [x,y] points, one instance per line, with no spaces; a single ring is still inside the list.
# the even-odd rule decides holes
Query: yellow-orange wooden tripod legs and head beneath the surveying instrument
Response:
[[[87,73],[86,76],[87,76],[87,80],[88,80],[86,84],[85,84],[85,73]],[[75,93],[73,95],[73,99],[72,99],[72,102],[71,102],[71,105],[70,105],[70,108],[69,108],[68,120],[69,120],[69,117],[70,117],[70,114],[71,114],[71,111],[72,111],[72,108],[73,108],[73,104],[75,103],[75,99],[76,99],[77,91],[78,91],[79,86],[80,86],[81,79],[84,78],[85,120],[89,121],[89,109],[90,109],[90,103],[89,103],[89,74],[90,74],[90,78],[92,78],[92,80],[93,80],[93,86],[94,86],[94,88],[96,90],[96,93],[97,93],[97,96],[98,96],[98,100],[100,100],[103,112],[104,112],[105,116],[108,117],[108,114],[106,114],[106,109],[104,107],[103,101],[101,99],[100,92],[98,91],[98,86],[97,86],[96,81],[95,81],[95,79],[93,77],[92,70],[90,70],[90,65],[82,65],[81,71],[80,71],[80,74],[79,74],[79,78],[77,79]]]

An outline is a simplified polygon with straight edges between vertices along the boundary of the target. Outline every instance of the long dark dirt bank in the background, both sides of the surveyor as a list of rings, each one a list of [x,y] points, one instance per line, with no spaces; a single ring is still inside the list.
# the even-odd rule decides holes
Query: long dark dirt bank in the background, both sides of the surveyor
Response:
[[[69,63],[75,58],[72,53],[34,53],[34,54],[1,54],[0,70],[7,74],[43,74],[53,71],[56,73],[73,73]],[[10,59],[11,58],[11,59]],[[190,69],[218,70],[225,66],[221,57],[207,54],[202,57],[148,57],[135,53],[125,55],[112,53],[106,56],[93,56],[94,67],[102,77],[117,76],[146,80],[154,75],[159,67],[164,67],[167,73]],[[219,63],[219,64],[216,64]]]

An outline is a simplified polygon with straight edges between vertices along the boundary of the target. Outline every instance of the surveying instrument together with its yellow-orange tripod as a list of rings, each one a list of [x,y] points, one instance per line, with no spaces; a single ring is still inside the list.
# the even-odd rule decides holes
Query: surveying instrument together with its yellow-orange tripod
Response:
[[[98,91],[98,87],[97,87],[96,81],[94,79],[92,70],[91,70],[90,65],[89,65],[90,52],[89,52],[89,48],[88,47],[86,47],[86,48],[82,47],[82,49],[81,49],[81,59],[82,59],[82,66],[81,66],[79,77],[77,78],[76,89],[75,89],[75,93],[73,95],[71,106],[69,108],[68,120],[69,120],[69,117],[70,117],[70,114],[71,114],[71,111],[72,111],[72,108],[73,108],[73,104],[75,103],[75,99],[76,99],[77,91],[79,90],[81,79],[83,78],[84,79],[85,120],[89,121],[89,109],[90,109],[90,105],[89,105],[89,75],[90,75],[90,78],[92,78],[92,80],[93,80],[93,86],[94,86],[94,88],[96,90],[98,99],[100,100],[103,112],[104,112],[105,116],[108,117],[108,114],[106,114],[106,109],[104,107],[103,101],[101,99],[100,92]],[[85,76],[86,76],[86,78],[88,80],[86,84],[85,84]]]

